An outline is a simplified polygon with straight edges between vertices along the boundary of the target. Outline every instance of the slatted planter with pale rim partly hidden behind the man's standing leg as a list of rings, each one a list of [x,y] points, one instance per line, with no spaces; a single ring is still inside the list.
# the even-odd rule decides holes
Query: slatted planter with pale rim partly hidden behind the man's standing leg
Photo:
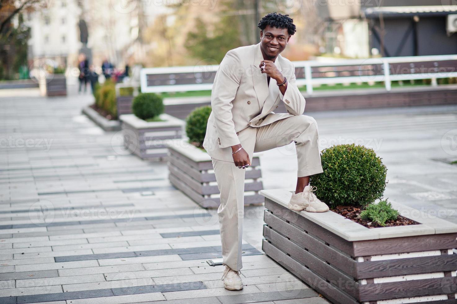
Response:
[[[220,192],[213,171],[211,157],[187,139],[167,142],[170,182],[203,208],[218,208]],[[259,194],[263,183],[259,178],[259,154],[255,153],[252,167],[246,169],[244,205],[260,205],[264,197]]]

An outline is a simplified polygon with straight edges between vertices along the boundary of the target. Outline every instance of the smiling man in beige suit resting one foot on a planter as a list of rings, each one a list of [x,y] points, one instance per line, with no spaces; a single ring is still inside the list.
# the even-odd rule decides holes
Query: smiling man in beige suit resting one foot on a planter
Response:
[[[297,187],[292,210],[325,212],[329,208],[312,192],[309,176],[322,173],[318,129],[313,117],[302,115],[305,99],[295,84],[293,64],[280,53],[295,33],[288,15],[270,13],[260,20],[260,43],[232,49],[219,65],[211,93],[203,147],[211,156],[221,192],[218,208],[224,287],[243,288],[239,277],[244,215],[244,168],[253,152],[295,142]],[[274,113],[280,102],[287,113]]]

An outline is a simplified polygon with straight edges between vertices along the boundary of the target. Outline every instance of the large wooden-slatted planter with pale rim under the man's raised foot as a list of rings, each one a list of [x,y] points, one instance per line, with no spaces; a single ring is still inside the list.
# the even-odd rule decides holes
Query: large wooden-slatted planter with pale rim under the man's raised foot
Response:
[[[391,202],[420,224],[368,229],[332,211],[292,211],[287,189],[260,194],[263,251],[330,301],[454,303],[457,224]]]

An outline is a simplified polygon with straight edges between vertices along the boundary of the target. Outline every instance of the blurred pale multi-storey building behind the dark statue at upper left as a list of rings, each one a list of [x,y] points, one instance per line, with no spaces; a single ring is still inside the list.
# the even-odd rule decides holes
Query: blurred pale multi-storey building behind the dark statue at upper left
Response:
[[[77,64],[78,54],[90,53],[90,64],[104,58],[123,68],[144,56],[142,29],[160,13],[153,1],[54,0],[47,8],[26,13],[31,28],[29,60],[47,58],[65,66]],[[154,2],[155,3],[155,2]],[[146,4],[146,5],[145,5]],[[80,20],[87,26],[87,43],[80,41]]]

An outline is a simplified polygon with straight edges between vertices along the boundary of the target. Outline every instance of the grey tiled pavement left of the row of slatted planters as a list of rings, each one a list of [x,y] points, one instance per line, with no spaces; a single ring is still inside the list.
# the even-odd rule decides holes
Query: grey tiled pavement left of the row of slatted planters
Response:
[[[244,289],[225,290],[206,262],[221,257],[214,211],[171,187],[164,163],[117,154],[80,115],[89,102],[0,98],[0,304],[328,303],[261,235],[244,241]],[[261,209],[247,227],[261,230]]]

